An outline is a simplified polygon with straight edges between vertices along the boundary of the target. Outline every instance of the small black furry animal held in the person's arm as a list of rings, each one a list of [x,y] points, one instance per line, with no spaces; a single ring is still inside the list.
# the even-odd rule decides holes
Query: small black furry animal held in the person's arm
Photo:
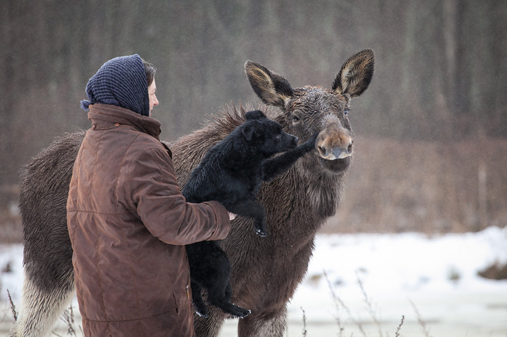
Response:
[[[255,219],[257,234],[266,236],[265,209],[255,200],[263,181],[287,171],[298,158],[315,147],[314,134],[297,146],[298,138],[282,131],[279,123],[261,111],[249,111],[246,121],[206,152],[194,168],[182,193],[188,202],[220,201],[229,212]],[[290,150],[290,151],[287,151]],[[287,151],[274,158],[275,153]],[[231,304],[231,264],[219,241],[188,244],[192,301],[197,314],[207,317],[201,288],[210,304],[237,317],[249,310]]]

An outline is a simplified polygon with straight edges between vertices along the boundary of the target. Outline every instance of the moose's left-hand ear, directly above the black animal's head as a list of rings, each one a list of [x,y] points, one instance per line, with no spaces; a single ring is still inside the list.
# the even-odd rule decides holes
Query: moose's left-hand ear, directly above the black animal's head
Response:
[[[246,61],[245,72],[253,91],[267,105],[283,108],[285,101],[293,94],[285,78],[260,64]]]

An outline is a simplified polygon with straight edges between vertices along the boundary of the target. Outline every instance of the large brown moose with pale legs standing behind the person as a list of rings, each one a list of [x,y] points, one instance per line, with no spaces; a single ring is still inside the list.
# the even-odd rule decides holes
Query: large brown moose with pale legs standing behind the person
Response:
[[[375,56],[364,50],[341,67],[331,89],[292,89],[281,75],[247,61],[250,85],[267,106],[263,113],[300,143],[318,133],[315,150],[283,175],[263,183],[257,201],[266,208],[269,235],[252,231],[250,218],[237,217],[222,249],[232,273],[232,302],[251,314],[239,320],[239,336],[282,336],[287,302],[303,280],[317,231],[335,214],[354,152],[350,101],[368,89]],[[227,106],[202,129],[169,144],[179,186],[208,148],[245,121],[245,110]],[[11,336],[45,336],[75,293],[73,250],[67,231],[66,200],[73,164],[84,132],[65,134],[25,166],[20,191],[24,282],[22,311]],[[268,263],[269,261],[269,263]],[[229,316],[208,306],[195,317],[198,336],[216,336]]]

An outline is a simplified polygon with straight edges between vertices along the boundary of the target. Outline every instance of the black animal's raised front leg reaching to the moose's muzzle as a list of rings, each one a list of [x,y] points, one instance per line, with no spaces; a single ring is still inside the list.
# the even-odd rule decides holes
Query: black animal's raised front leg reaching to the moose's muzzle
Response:
[[[283,154],[268,159],[262,166],[263,181],[269,182],[278,175],[281,175],[298,160],[304,156],[306,152],[311,151],[315,148],[315,140],[317,139],[318,133],[313,134],[309,140],[300,146],[284,152]]]

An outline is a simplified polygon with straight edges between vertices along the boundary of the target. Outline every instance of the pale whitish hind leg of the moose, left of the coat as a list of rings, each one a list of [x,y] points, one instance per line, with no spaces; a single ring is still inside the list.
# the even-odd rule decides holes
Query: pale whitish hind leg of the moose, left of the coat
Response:
[[[25,273],[22,310],[9,336],[47,336],[75,293],[74,279],[67,287],[41,289]]]

